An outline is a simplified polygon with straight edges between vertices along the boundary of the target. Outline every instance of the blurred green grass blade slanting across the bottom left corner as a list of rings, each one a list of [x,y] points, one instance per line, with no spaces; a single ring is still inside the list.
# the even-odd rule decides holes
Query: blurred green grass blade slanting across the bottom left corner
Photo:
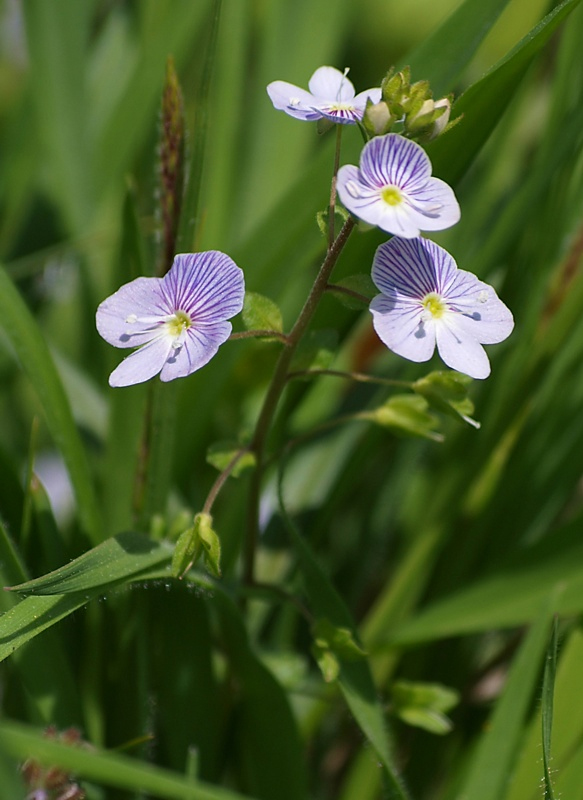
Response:
[[[253,800],[229,789],[185,778],[145,761],[97,748],[70,747],[47,739],[41,731],[15,722],[0,722],[0,749],[19,761],[34,758],[62,767],[94,783],[148,794],[163,800]]]

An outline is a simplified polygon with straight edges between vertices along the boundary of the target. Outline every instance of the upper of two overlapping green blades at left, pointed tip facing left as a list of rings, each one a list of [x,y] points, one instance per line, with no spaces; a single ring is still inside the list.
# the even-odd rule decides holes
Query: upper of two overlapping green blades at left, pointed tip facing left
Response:
[[[11,586],[10,590],[22,594],[59,595],[103,589],[169,563],[171,557],[172,549],[167,543],[153,542],[141,533],[119,533],[64,567]]]

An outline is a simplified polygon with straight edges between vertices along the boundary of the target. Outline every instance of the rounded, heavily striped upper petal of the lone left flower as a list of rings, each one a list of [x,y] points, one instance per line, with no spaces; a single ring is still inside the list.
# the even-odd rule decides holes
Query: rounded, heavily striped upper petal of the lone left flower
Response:
[[[243,271],[225,253],[181,253],[164,277],[164,291],[174,310],[190,315],[193,323],[218,322],[243,308]]]

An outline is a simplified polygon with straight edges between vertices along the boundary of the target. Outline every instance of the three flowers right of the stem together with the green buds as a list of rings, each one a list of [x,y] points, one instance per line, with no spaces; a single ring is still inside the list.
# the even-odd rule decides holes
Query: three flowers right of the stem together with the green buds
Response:
[[[381,292],[370,304],[374,328],[381,341],[404,358],[428,361],[437,346],[452,369],[486,378],[490,364],[482,345],[510,335],[512,314],[491,286],[459,270],[446,250],[420,237],[421,231],[455,225],[460,208],[451,187],[432,177],[425,150],[410,138],[387,132],[397,122],[405,132],[413,132],[417,124],[425,136],[429,129],[431,136],[442,133],[449,100],[428,99],[428,85],[411,86],[408,73],[388,77],[382,102],[375,89],[354,97],[346,73],[331,67],[316,70],[310,94],[281,81],[270,84],[267,91],[276,108],[302,120],[336,115],[336,122],[359,122],[365,111],[372,123],[382,117],[378,130],[374,124],[365,125],[373,136],[362,150],[359,166],[341,167],[337,178],[338,195],[348,211],[394,237],[378,248],[373,262],[372,279]],[[415,87],[418,102],[409,96]],[[348,102],[350,112],[343,108],[339,118],[340,107]],[[401,119],[394,118],[396,108],[401,108]]]

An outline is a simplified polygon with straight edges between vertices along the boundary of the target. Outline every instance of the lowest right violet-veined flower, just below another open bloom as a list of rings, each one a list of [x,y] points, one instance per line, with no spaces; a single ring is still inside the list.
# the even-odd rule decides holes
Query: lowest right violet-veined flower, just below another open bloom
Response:
[[[382,294],[370,310],[387,347],[410,361],[435,350],[452,369],[486,378],[482,347],[510,335],[514,320],[487,283],[457,268],[452,256],[428,239],[394,238],[375,253],[372,279]]]

